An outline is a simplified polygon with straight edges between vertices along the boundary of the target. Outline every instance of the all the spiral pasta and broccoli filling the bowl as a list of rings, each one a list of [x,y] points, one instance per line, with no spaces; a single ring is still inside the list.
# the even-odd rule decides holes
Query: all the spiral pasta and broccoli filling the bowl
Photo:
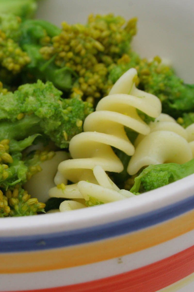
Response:
[[[136,18],[0,20],[1,217],[126,199],[194,173],[194,86],[132,51]],[[48,191],[40,164],[56,158]],[[45,192],[56,198],[46,206]]]

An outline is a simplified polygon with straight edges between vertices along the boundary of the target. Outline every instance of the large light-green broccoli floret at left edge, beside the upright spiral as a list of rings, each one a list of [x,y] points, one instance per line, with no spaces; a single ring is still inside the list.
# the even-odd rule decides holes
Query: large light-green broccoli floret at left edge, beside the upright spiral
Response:
[[[82,132],[83,121],[93,109],[88,102],[62,99],[61,95],[52,82],[40,80],[0,95],[0,140],[45,134],[55,145],[68,147],[70,139]]]

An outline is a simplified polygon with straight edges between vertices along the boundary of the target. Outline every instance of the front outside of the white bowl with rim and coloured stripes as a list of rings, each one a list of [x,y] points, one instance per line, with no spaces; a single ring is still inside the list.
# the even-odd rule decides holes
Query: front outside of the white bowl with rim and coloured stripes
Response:
[[[125,202],[1,221],[1,292],[194,291],[194,175]]]

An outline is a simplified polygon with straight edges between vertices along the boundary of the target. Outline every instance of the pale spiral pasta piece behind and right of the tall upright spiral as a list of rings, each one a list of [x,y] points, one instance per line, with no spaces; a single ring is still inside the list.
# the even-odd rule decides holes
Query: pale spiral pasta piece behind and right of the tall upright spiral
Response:
[[[161,114],[150,123],[149,135],[137,137],[128,173],[133,175],[150,164],[182,164],[191,160],[192,151],[187,139],[188,133],[182,126],[169,115]]]

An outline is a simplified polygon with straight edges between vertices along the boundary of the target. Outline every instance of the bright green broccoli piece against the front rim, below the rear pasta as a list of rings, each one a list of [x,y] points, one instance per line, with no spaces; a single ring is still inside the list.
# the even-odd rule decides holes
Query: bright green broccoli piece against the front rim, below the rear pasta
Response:
[[[194,173],[194,159],[184,163],[149,165],[136,178],[130,192],[147,192]]]

